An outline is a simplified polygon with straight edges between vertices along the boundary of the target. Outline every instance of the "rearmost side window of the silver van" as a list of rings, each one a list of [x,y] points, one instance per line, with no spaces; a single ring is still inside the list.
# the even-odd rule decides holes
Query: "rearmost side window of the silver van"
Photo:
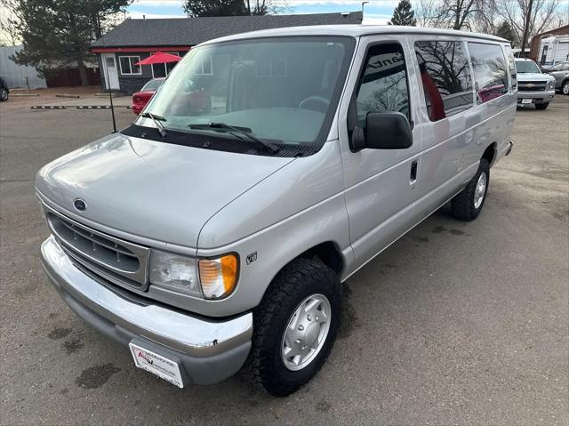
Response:
[[[469,52],[478,102],[484,103],[508,92],[508,72],[501,47],[497,44],[469,43]]]

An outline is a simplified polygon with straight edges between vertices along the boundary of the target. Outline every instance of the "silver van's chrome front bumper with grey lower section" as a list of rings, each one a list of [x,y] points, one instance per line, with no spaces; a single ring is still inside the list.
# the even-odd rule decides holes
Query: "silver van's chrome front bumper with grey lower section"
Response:
[[[79,317],[126,347],[133,342],[176,361],[185,384],[220,382],[244,365],[251,312],[215,320],[127,300],[78,269],[54,237],[42,244],[41,259],[52,285]]]

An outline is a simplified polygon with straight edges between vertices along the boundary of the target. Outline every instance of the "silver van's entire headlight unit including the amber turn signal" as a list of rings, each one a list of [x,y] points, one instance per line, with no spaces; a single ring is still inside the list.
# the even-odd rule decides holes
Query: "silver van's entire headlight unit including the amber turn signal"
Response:
[[[221,299],[233,292],[239,272],[236,254],[196,259],[152,250],[150,283],[176,292]]]

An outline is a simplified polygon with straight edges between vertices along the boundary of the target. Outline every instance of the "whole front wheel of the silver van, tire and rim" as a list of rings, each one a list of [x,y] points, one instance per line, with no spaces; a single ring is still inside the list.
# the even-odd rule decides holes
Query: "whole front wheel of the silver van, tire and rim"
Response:
[[[340,281],[323,263],[299,258],[284,267],[253,312],[252,382],[275,397],[309,382],[332,350],[340,298]]]

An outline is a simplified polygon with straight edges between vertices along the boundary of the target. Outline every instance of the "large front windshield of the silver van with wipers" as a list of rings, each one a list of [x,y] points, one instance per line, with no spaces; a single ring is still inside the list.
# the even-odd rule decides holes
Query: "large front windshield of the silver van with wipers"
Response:
[[[199,46],[172,70],[145,111],[164,118],[168,131],[236,139],[221,126],[228,125],[263,141],[317,146],[354,44],[349,37],[312,36]],[[153,126],[148,117],[136,124]],[[240,136],[240,143],[254,145]]]

